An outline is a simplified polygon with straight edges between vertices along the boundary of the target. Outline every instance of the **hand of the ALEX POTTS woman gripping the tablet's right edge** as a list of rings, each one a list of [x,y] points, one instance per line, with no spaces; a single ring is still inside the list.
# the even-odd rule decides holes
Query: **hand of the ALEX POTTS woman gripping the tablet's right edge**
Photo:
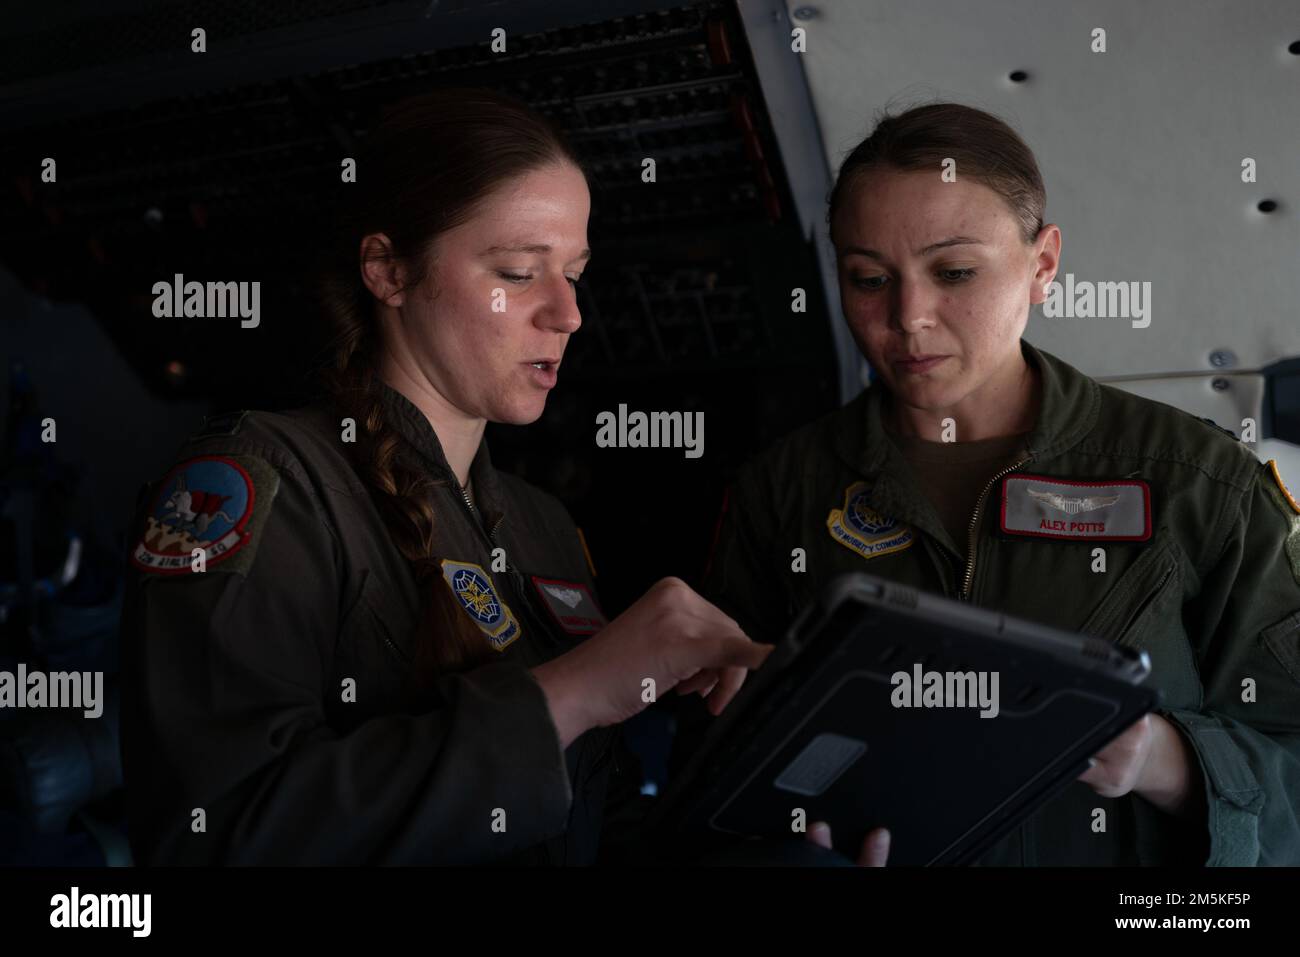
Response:
[[[1158,714],[1147,714],[1108,744],[1079,780],[1102,797],[1134,792],[1162,811],[1182,815],[1192,796],[1190,750],[1178,728]]]

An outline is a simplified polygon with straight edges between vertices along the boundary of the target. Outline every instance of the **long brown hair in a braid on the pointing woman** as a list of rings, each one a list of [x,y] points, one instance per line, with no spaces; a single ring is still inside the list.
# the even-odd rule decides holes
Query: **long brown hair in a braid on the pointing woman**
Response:
[[[318,276],[329,315],[333,360],[325,387],[355,419],[350,454],[369,486],[393,542],[411,563],[424,598],[421,679],[471,667],[491,649],[442,580],[433,554],[438,516],[433,490],[446,485],[402,456],[406,439],[385,421],[380,399],[377,302],[361,281],[361,238],[385,233],[390,260],[408,269],[407,286],[424,281],[439,235],[465,222],[506,181],[558,163],[581,169],[560,134],[524,104],[486,90],[437,90],[390,108],[359,151],[356,182],[343,189],[335,246]]]

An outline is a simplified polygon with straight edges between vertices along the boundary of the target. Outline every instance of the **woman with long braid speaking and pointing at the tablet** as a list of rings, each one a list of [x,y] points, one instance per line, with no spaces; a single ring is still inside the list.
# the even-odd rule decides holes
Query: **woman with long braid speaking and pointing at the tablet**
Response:
[[[675,579],[606,622],[564,507],[493,468],[486,423],[542,413],[581,325],[590,200],[559,135],[439,91],[343,189],[328,398],[209,419],[142,499],[136,858],[593,862],[634,819],[616,726],[645,681],[716,714],[767,649]]]

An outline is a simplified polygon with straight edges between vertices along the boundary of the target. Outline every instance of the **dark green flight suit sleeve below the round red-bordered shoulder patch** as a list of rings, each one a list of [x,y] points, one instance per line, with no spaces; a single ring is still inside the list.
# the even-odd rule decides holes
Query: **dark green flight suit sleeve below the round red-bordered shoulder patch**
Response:
[[[563,832],[564,754],[541,687],[517,664],[446,676],[415,714],[346,733],[326,720],[328,696],[341,694],[342,545],[291,455],[218,454],[257,484],[256,541],[238,563],[130,575],[124,762],[136,858],[474,863]]]

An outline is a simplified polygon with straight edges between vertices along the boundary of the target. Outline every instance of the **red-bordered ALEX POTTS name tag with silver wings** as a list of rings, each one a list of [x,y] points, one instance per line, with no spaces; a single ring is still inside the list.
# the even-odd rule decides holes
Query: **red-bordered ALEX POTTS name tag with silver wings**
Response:
[[[1150,486],[1141,478],[1072,481],[1037,475],[1002,480],[1001,528],[1009,534],[1089,542],[1150,538]]]

